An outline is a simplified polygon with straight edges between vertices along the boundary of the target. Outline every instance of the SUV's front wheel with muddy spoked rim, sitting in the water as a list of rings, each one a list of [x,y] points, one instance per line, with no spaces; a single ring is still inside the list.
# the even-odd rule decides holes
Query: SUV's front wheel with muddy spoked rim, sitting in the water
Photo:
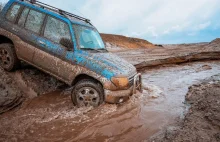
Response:
[[[73,104],[78,107],[97,107],[104,101],[104,90],[100,83],[93,80],[81,80],[71,93]]]

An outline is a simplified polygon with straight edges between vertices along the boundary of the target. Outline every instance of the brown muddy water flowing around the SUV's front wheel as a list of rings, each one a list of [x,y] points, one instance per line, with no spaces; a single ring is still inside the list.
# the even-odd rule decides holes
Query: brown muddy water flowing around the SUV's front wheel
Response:
[[[220,61],[142,71],[144,93],[120,105],[75,108],[68,91],[26,101],[0,116],[0,141],[147,141],[183,118],[188,87],[220,73]]]

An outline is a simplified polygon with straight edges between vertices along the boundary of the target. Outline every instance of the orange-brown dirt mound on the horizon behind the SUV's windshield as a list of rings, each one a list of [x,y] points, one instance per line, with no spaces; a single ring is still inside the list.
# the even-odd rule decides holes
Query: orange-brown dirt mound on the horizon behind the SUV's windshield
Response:
[[[121,35],[101,34],[107,48],[154,48],[155,46],[147,40],[131,38]]]

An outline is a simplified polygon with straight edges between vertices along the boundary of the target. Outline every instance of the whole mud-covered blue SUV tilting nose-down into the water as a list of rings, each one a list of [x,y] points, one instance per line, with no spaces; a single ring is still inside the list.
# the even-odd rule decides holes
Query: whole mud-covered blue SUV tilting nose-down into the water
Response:
[[[105,49],[88,19],[38,1],[10,0],[2,10],[0,61],[8,71],[24,61],[73,86],[75,104],[90,104],[88,92],[98,96],[92,105],[120,103],[141,89],[136,68]]]

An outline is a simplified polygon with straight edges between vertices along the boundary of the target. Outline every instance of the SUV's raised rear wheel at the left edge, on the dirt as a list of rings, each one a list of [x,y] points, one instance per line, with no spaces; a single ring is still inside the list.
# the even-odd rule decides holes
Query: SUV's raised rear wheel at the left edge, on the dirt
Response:
[[[20,67],[20,61],[12,44],[0,44],[0,67],[6,71],[14,71]]]

